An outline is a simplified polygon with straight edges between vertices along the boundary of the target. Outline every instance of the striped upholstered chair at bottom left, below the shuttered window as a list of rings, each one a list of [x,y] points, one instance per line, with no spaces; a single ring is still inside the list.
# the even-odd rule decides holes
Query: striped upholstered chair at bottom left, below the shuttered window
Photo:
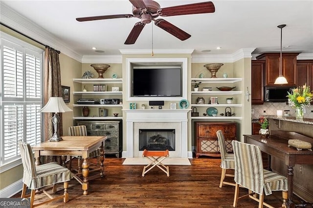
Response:
[[[73,178],[71,172],[66,167],[60,166],[56,162],[35,166],[35,158],[29,144],[19,141],[22,164],[23,164],[23,188],[21,198],[30,197],[30,207],[38,207],[43,204],[49,203],[54,200],[62,199],[64,202],[68,202],[68,181]],[[55,198],[51,198],[51,195],[46,192],[50,185],[52,191],[56,192],[57,183],[64,183],[64,194]],[[31,189],[31,193],[26,195],[26,187]],[[36,193],[44,192],[49,199],[45,202],[34,205],[34,199]]]

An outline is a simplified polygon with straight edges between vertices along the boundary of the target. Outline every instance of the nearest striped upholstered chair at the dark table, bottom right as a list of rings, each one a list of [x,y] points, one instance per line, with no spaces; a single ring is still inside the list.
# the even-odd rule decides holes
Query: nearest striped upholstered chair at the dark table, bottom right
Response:
[[[283,191],[283,206],[286,207],[288,195],[288,180],[286,177],[263,169],[261,150],[258,146],[232,141],[235,156],[235,196],[233,207],[237,207],[239,199],[239,186],[249,190],[242,197],[249,197],[259,202],[259,208],[263,205],[273,208],[264,202],[264,194],[272,194],[272,191]],[[259,194],[259,199],[255,197]]]

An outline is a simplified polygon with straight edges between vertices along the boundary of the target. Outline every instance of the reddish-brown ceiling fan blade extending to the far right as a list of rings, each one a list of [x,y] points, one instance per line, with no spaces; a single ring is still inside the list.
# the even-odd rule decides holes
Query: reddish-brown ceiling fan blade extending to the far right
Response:
[[[192,15],[192,14],[203,14],[213,13],[215,7],[212,1],[192,3],[179,6],[172,6],[161,8],[157,11],[157,14],[162,17],[178,16],[178,15]]]

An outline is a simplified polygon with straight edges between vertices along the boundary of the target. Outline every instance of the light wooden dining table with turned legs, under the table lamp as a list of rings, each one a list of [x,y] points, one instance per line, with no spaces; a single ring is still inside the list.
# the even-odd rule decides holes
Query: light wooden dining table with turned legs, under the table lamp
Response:
[[[103,142],[106,140],[106,136],[64,136],[62,141],[59,142],[43,142],[36,146],[32,146],[35,153],[35,165],[41,164],[40,156],[57,155],[63,156],[63,164],[66,156],[82,156],[82,172],[73,174],[73,177],[81,183],[83,194],[88,194],[89,189],[89,153],[100,147],[100,176],[103,176],[104,166],[104,150]],[[77,175],[82,175],[81,180]]]

